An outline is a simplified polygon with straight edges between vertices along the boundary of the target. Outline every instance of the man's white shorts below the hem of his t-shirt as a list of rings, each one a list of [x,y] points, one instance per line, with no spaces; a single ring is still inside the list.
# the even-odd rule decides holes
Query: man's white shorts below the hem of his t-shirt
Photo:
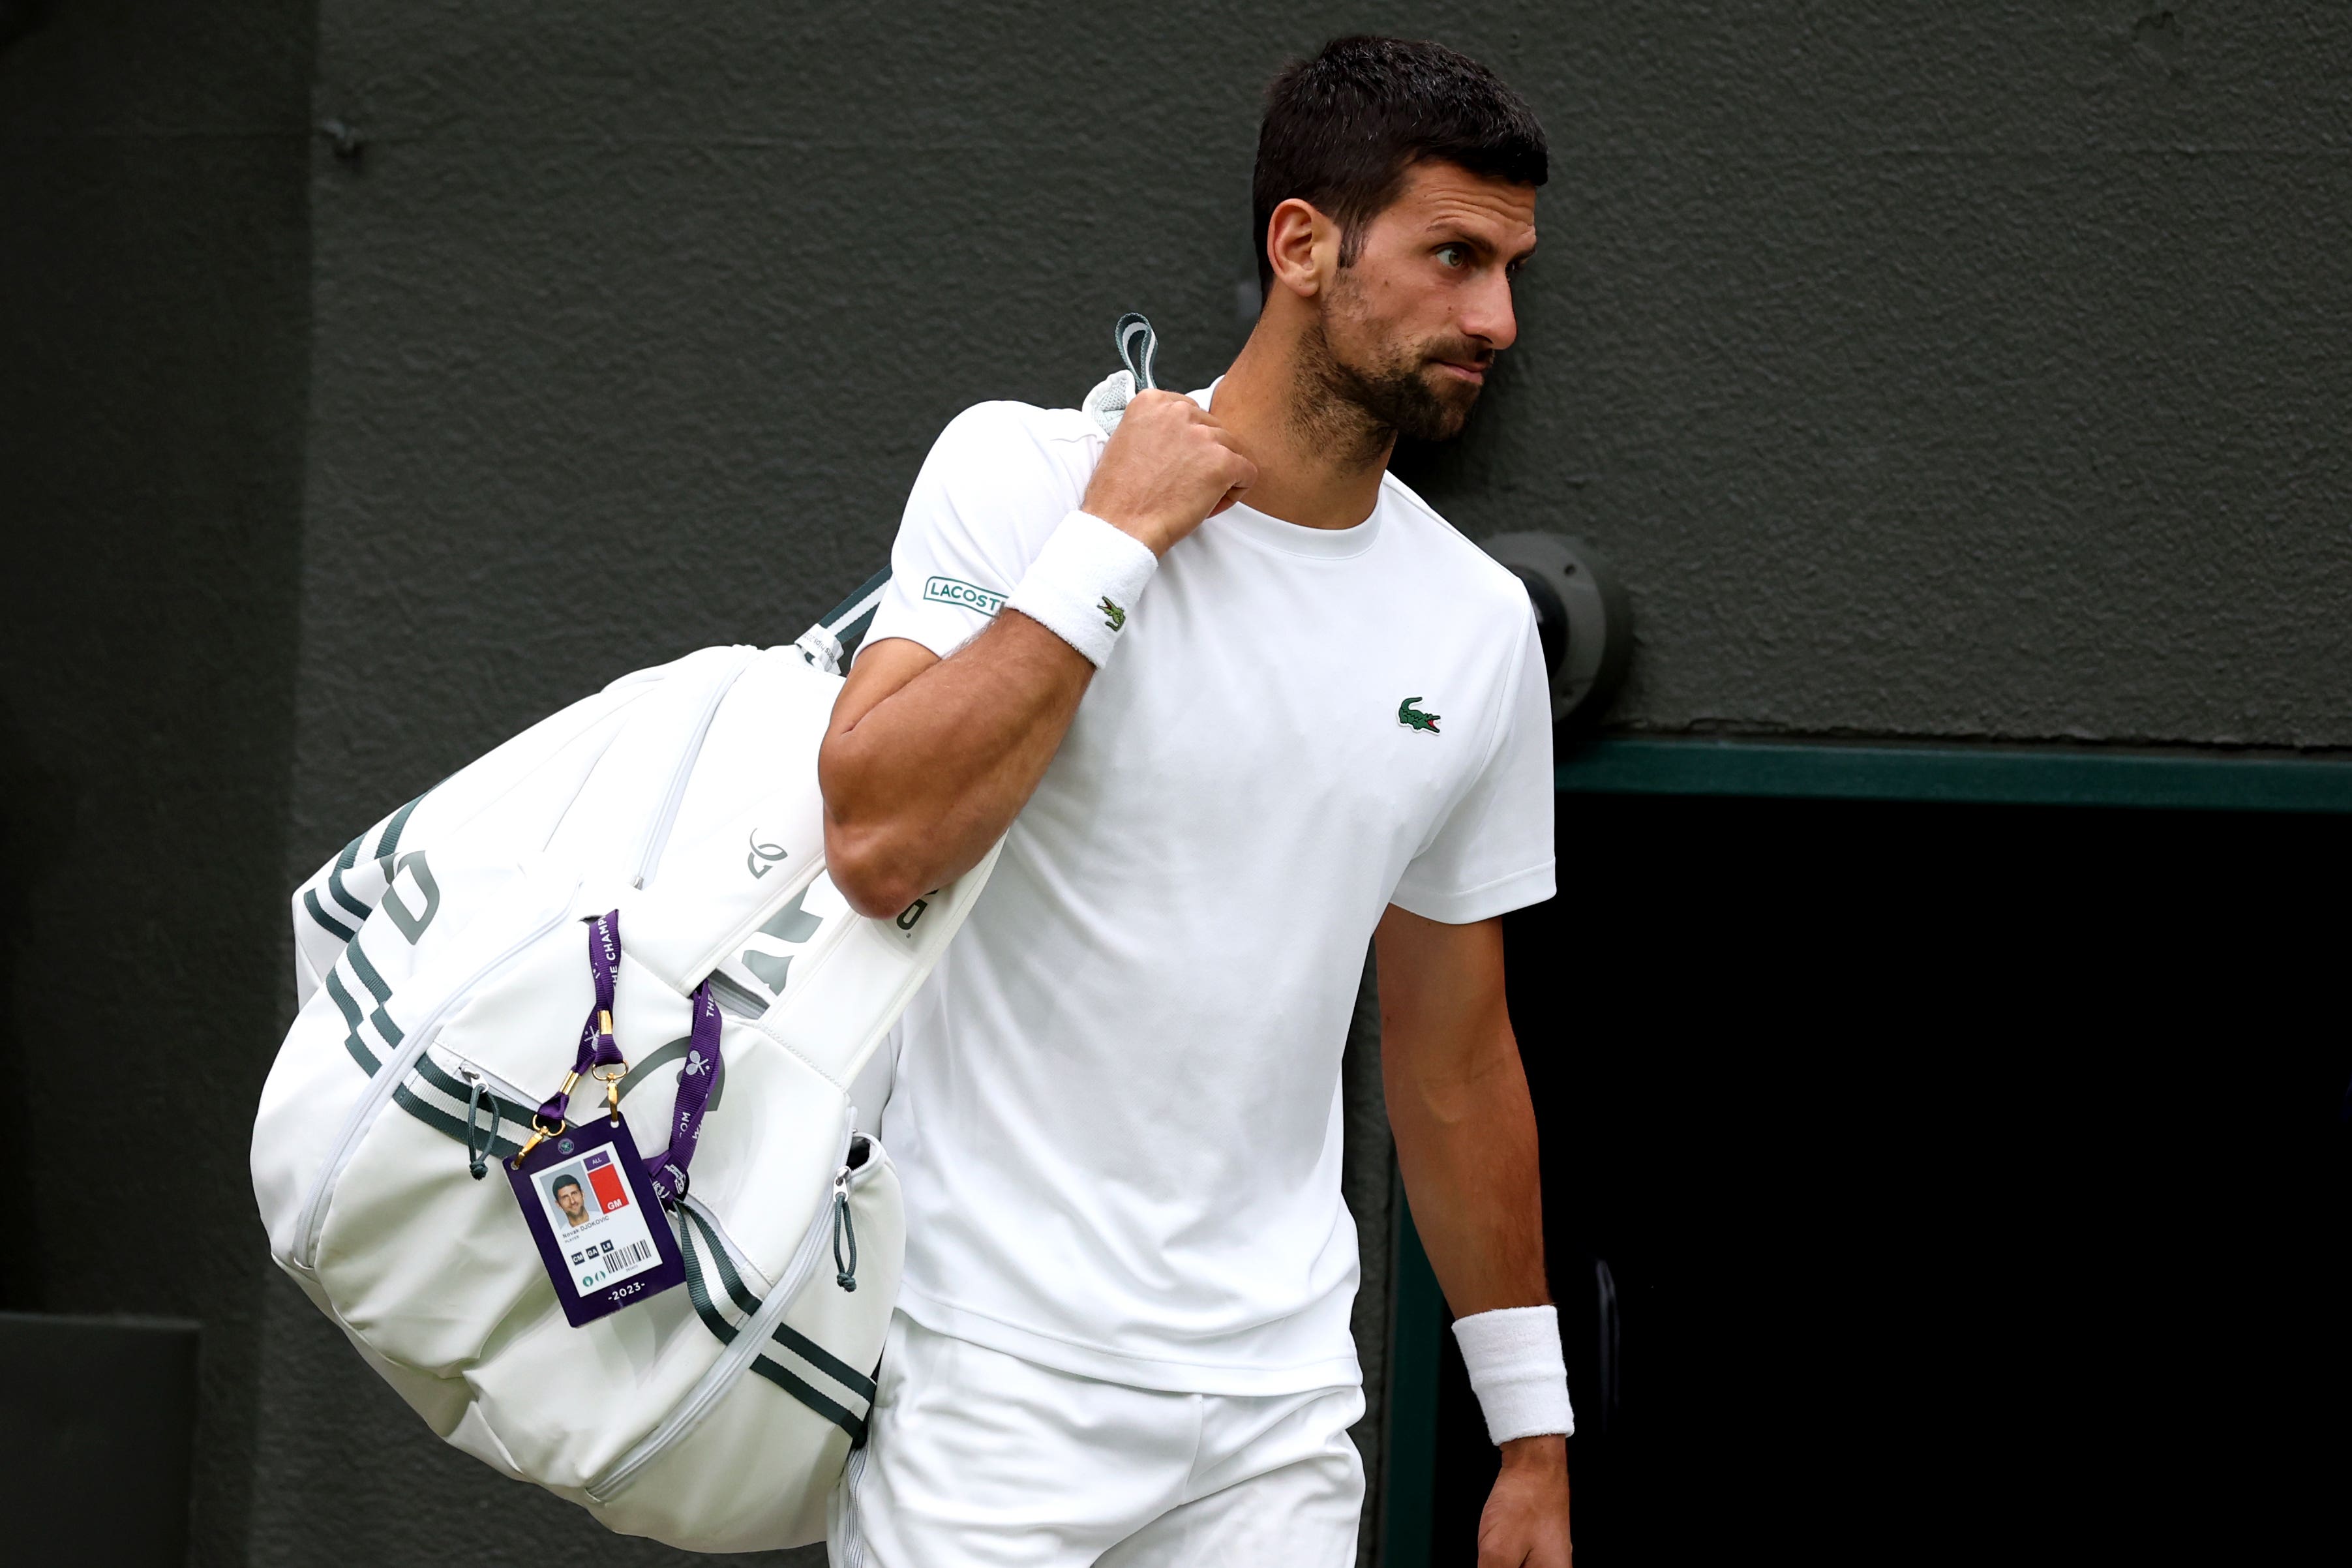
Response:
[[[835,1568],[1352,1568],[1364,1389],[1167,1394],[891,1319]]]

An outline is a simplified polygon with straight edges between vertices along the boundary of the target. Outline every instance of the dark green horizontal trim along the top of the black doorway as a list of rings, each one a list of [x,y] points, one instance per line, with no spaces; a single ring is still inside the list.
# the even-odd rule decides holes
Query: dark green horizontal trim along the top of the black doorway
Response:
[[[1569,795],[2352,811],[2352,762],[2002,745],[1611,736],[1564,752],[1555,783]]]

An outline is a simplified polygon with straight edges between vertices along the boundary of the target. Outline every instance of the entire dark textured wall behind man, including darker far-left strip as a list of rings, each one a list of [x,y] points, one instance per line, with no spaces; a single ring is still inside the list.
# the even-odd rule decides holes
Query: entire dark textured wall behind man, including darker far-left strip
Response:
[[[287,879],[621,670],[795,635],[936,428],[1073,400],[1120,310],[1209,378],[1258,87],[1348,28],[1552,127],[1526,341],[1404,463],[1616,559],[1618,724],[2352,745],[2338,5],[68,0],[0,54],[0,1041],[96,1032],[143,1138],[209,1114],[216,1246],[47,1175],[40,1081],[9,1302],[207,1319],[205,1561],[247,1512],[268,1563],[597,1540],[261,1281]]]

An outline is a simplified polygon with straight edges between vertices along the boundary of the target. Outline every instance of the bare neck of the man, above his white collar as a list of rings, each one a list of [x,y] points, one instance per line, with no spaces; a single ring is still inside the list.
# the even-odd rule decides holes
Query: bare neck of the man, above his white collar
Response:
[[[1310,369],[1312,320],[1270,308],[1216,383],[1216,423],[1258,465],[1242,501],[1308,529],[1352,529],[1381,501],[1395,437],[1336,404]],[[1277,320],[1282,317],[1282,320]]]

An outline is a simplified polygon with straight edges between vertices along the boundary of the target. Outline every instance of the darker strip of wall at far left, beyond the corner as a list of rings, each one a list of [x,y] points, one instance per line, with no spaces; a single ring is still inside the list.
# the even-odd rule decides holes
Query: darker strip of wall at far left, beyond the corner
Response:
[[[301,0],[0,47],[0,1305],[202,1319],[202,1563],[245,1554],[289,1011],[310,54]]]

